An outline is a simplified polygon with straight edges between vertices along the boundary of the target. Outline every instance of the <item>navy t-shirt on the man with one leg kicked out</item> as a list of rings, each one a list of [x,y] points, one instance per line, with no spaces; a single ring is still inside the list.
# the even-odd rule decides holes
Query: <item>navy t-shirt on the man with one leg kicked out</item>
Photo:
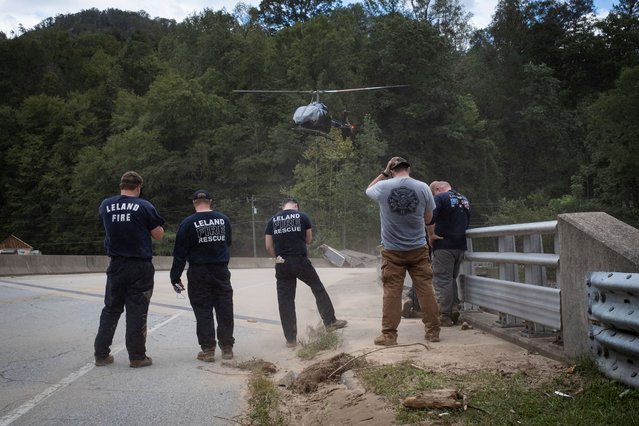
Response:
[[[273,216],[264,234],[273,236],[276,256],[306,256],[306,230],[311,220],[304,212],[289,209]]]

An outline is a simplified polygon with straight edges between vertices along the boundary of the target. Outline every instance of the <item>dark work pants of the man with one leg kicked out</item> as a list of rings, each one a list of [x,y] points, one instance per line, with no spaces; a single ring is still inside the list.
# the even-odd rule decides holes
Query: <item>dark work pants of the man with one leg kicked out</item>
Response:
[[[280,310],[280,320],[284,337],[287,341],[297,339],[297,315],[295,313],[295,291],[297,280],[304,282],[311,288],[317,310],[324,325],[335,322],[335,309],[328,296],[324,284],[317,275],[313,264],[306,256],[286,257],[284,263],[275,264],[275,278],[277,280],[277,302]]]

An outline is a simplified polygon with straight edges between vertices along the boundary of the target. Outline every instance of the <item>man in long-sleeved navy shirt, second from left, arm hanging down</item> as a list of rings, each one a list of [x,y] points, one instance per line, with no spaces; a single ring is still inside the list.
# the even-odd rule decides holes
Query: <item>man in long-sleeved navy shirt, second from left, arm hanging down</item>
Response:
[[[211,194],[200,189],[193,194],[195,213],[180,223],[173,248],[171,284],[175,291],[184,289],[180,277],[186,262],[188,293],[196,320],[196,334],[202,351],[197,359],[215,361],[219,343],[222,358],[233,358],[233,287],[229,271],[231,221],[211,209]],[[217,318],[217,341],[213,310]]]

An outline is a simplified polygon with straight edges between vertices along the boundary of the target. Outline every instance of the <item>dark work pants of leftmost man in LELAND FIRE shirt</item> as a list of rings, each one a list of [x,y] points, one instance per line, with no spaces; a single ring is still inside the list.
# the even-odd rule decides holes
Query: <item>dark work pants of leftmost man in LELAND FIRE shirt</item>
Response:
[[[146,357],[146,319],[153,294],[151,260],[112,258],[107,268],[104,308],[95,336],[95,356],[106,358],[120,315],[126,309],[126,349],[130,360]]]

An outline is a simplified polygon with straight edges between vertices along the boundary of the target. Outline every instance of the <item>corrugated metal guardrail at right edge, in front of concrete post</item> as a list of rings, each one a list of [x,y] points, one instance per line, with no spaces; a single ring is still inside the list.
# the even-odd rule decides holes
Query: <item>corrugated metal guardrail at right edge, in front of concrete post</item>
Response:
[[[639,388],[639,274],[592,272],[586,288],[590,351],[599,369]]]

